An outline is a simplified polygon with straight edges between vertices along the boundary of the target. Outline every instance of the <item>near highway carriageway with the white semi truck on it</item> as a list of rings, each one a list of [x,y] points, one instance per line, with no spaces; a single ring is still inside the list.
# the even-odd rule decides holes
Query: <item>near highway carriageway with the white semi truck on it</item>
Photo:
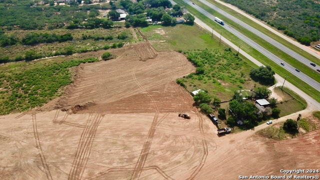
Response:
[[[199,7],[196,4],[192,4],[192,2],[190,0],[184,0],[184,2],[186,2],[187,4],[191,5],[193,8],[195,8],[196,10],[198,10],[199,12],[201,12],[202,14],[204,14],[205,16],[207,16],[208,18],[214,20],[214,16],[212,14],[210,14],[209,12],[207,12],[206,10],[202,9],[201,7]],[[222,19],[223,20],[223,19]],[[251,40],[250,38],[246,37],[245,35],[243,35],[242,33],[240,33],[239,31],[235,30],[234,28],[232,28],[231,26],[227,25],[224,23],[224,25],[222,26],[225,29],[227,29],[228,31],[230,31],[231,33],[235,34],[237,37],[239,37],[240,39],[242,39],[244,42],[248,43],[250,46],[252,46],[253,48],[255,48],[256,50],[258,50],[260,53],[262,53],[263,55],[265,55],[266,57],[270,58],[271,60],[273,60],[274,62],[278,63],[280,65],[280,62],[283,62],[283,60],[279,57],[277,57],[276,55],[274,55],[273,53],[271,53],[270,51],[268,51],[267,49],[265,49],[264,47],[262,47],[261,45],[257,44],[256,42],[254,42],[253,40]],[[282,65],[280,65],[282,66]],[[320,91],[320,83],[317,82],[316,80],[310,78],[309,76],[307,76],[306,74],[304,74],[303,72],[297,72],[295,70],[296,67],[293,67],[289,64],[285,64],[284,66],[282,66],[284,69],[286,69],[287,71],[291,72],[292,74],[294,74],[295,76],[297,76],[298,78],[300,78],[301,80],[303,80],[304,82],[306,82],[307,84],[309,84],[310,86],[312,86],[313,88],[315,88],[316,90]],[[313,67],[313,66],[312,66]],[[317,66],[318,67],[318,66]],[[318,67],[319,68],[319,67]],[[315,73],[317,73],[315,71]]]

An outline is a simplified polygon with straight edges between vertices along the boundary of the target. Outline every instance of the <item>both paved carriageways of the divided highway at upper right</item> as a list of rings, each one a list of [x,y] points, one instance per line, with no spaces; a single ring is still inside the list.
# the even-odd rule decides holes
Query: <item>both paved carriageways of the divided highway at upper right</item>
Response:
[[[210,18],[211,20],[214,21],[214,16],[212,14],[210,14],[209,12],[207,12],[206,10],[202,9],[201,7],[199,7],[198,5],[196,4],[192,4],[192,2],[190,0],[183,0],[184,2],[186,2],[187,4],[189,4],[190,6],[192,6],[193,8],[195,8],[196,10],[198,10],[199,12],[201,12],[202,14],[204,14],[205,16],[207,16],[208,18]],[[209,7],[214,7],[214,10],[216,10],[217,12],[223,14],[224,16],[232,19],[233,21],[235,21],[234,19],[237,19],[235,17],[233,17],[232,15],[226,13],[225,11],[221,10],[220,8],[214,6],[213,4],[205,1],[205,0],[200,0],[201,2],[206,2],[208,4],[210,4]],[[205,3],[205,4],[206,4]],[[212,8],[211,7],[211,8]],[[223,19],[222,19],[223,20]],[[242,26],[249,26],[247,25],[246,23],[244,23],[243,21],[237,19],[239,22],[240,25],[243,25]],[[256,42],[254,42],[253,40],[251,40],[250,38],[246,37],[245,35],[243,35],[242,33],[240,33],[239,31],[235,30],[234,28],[232,28],[231,26],[227,25],[224,23],[223,27],[225,29],[227,29],[228,31],[230,31],[231,33],[233,33],[234,35],[236,35],[237,37],[239,37],[241,40],[243,40],[244,42],[246,42],[247,44],[249,44],[250,46],[252,46],[253,48],[255,48],[256,50],[258,50],[259,52],[261,52],[263,55],[265,55],[266,57],[268,57],[269,59],[273,60],[275,63],[277,64],[280,64],[280,62],[283,62],[283,60],[279,57],[277,57],[276,55],[274,55],[273,53],[271,53],[270,51],[268,51],[267,49],[265,49],[264,47],[262,47],[261,45],[257,44]],[[251,26],[249,26],[251,27]],[[252,29],[254,29],[253,27],[251,27]],[[248,29],[249,30],[249,29]],[[252,30],[253,33],[255,33],[255,31],[259,32],[258,30],[254,29]],[[261,32],[259,32],[259,34],[263,34]],[[257,34],[257,35],[259,35]],[[309,63],[310,61],[307,60],[306,58],[304,58],[303,56],[297,54],[296,52],[290,50],[289,48],[285,47],[284,45],[280,44],[279,42],[273,40],[272,38],[266,36],[265,34],[263,34],[262,36],[260,36],[261,38],[264,39],[264,37],[266,37],[267,39],[270,40],[270,43],[276,47],[282,47],[280,48],[281,50],[284,49],[283,51],[285,53],[288,53],[290,56],[294,57],[294,58],[299,58],[301,57],[301,60],[300,59],[297,59],[299,61],[301,61],[302,63],[305,63],[306,65],[310,66],[310,68],[312,68],[313,66],[311,66]],[[266,40],[267,41],[267,40]],[[269,41],[268,41],[269,42]],[[275,45],[274,43],[276,42],[277,45]],[[279,48],[278,47],[278,48]],[[295,54],[295,55],[294,55]],[[282,65],[281,65],[282,66]],[[303,72],[297,72],[295,69],[298,68],[298,67],[293,67],[289,64],[285,64],[282,66],[284,69],[286,69],[287,71],[291,72],[293,75],[297,76],[298,78],[300,78],[301,80],[303,80],[304,82],[306,82],[307,84],[309,84],[310,86],[312,86],[313,88],[315,88],[316,90],[320,91],[320,83],[317,82],[316,80],[310,78],[309,76],[307,76],[306,74],[304,74]],[[320,68],[318,65],[316,66],[317,68]],[[315,68],[314,68],[315,69]]]

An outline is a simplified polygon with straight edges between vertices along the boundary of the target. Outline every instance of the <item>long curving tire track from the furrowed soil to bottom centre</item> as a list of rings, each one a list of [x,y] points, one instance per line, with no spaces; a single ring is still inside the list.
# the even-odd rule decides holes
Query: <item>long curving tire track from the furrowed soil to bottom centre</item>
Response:
[[[155,109],[155,114],[154,114],[154,117],[153,117],[153,120],[152,120],[152,123],[151,123],[151,127],[149,128],[149,131],[148,131],[148,134],[147,134],[147,138],[142,146],[142,150],[140,152],[140,155],[139,155],[139,158],[134,166],[134,169],[133,169],[133,173],[132,173],[132,176],[131,176],[131,180],[133,179],[139,179],[139,176],[141,174],[141,171],[143,170],[143,166],[144,166],[144,163],[145,163],[145,160],[146,160],[146,157],[148,156],[148,153],[149,153],[149,150],[150,150],[150,147],[151,147],[151,142],[152,142],[152,139],[153,139],[153,136],[154,136],[154,132],[156,130],[156,125],[157,125],[157,120],[158,120],[158,116],[159,116],[159,109],[155,103],[155,100],[153,99],[153,97],[151,96],[150,93],[148,93],[143,87],[142,85],[137,81],[136,79],[136,75],[135,75],[135,70],[136,70],[136,65],[133,67],[133,70],[132,70],[132,77],[133,77],[133,80],[134,82],[139,86],[139,88],[144,91],[148,97],[150,98],[153,106],[154,106],[154,109]]]

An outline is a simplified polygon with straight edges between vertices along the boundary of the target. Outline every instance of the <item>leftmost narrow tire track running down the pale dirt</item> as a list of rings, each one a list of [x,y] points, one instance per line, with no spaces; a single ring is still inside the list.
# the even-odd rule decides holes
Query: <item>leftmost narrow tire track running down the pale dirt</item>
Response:
[[[33,135],[35,138],[35,144],[36,144],[36,148],[40,150],[40,159],[43,165],[44,173],[47,179],[52,179],[49,166],[45,160],[44,153],[40,144],[39,134],[38,134],[37,125],[36,125],[35,112],[32,113],[32,124],[33,124]]]

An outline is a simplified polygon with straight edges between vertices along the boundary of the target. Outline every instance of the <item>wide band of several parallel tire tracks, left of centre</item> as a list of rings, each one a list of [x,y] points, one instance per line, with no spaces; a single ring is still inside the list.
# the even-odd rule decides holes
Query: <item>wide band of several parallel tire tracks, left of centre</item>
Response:
[[[91,123],[89,125],[89,128],[85,128],[82,131],[68,179],[81,179],[86,163],[90,156],[90,151],[97,127],[104,115],[105,114],[95,114],[92,120],[91,118],[93,115],[89,115],[87,124],[90,122]]]

